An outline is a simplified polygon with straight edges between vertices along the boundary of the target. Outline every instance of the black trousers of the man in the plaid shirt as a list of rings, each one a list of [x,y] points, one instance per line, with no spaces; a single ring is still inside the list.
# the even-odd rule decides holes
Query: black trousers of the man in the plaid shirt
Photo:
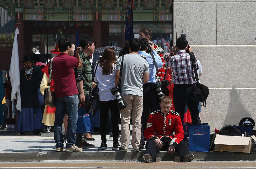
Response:
[[[195,102],[189,98],[189,93],[192,89],[192,85],[174,84],[173,87],[173,104],[175,112],[181,115],[181,121],[183,124],[184,111],[187,102],[189,112],[191,114],[192,124],[201,124],[199,118],[198,102]]]

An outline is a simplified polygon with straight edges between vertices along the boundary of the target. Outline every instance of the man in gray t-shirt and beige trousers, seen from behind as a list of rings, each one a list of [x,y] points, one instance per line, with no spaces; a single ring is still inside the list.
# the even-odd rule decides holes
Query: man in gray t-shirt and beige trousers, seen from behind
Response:
[[[149,80],[149,64],[138,55],[140,43],[137,38],[133,38],[129,42],[130,54],[126,54],[118,58],[116,63],[115,84],[117,86],[122,57],[124,57],[122,79],[121,79],[121,95],[126,105],[125,109],[121,109],[121,147],[120,151],[126,152],[130,142],[130,118],[132,119],[132,140],[131,145],[135,152],[139,151],[141,137],[141,114],[143,104],[143,82],[148,83]]]

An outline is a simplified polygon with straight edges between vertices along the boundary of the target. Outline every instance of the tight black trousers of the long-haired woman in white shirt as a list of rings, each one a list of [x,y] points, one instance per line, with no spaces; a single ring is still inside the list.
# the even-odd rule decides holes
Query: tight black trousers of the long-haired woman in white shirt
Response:
[[[111,111],[113,143],[118,143],[120,112],[117,100],[99,101],[101,143],[107,143],[108,110]]]

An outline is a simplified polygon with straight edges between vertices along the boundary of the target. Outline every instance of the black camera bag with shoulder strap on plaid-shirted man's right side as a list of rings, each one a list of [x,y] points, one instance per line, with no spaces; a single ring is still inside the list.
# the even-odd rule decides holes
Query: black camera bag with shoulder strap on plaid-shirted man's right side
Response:
[[[196,102],[203,102],[203,106],[206,107],[205,103],[206,103],[206,99],[209,95],[209,89],[207,86],[198,82],[199,78],[198,78],[197,69],[196,69],[196,58],[195,58],[195,55],[193,52],[189,53],[189,55],[190,55],[190,60],[193,65],[195,78],[197,80],[197,82],[193,84],[193,87],[189,94],[189,98]]]

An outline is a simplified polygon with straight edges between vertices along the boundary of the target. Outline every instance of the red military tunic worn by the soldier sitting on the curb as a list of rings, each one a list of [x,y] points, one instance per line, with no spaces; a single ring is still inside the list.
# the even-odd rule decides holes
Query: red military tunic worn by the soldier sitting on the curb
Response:
[[[173,134],[174,130],[175,135]],[[180,115],[172,110],[167,114],[163,114],[161,110],[152,112],[149,115],[144,136],[147,140],[156,138],[161,139],[163,136],[170,137],[172,138],[170,145],[173,144],[177,148],[184,138]]]

